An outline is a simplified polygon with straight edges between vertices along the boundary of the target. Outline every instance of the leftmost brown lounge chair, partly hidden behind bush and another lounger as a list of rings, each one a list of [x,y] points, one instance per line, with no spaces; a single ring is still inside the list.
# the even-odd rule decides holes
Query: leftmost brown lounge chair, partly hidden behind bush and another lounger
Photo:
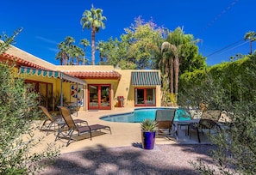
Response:
[[[53,117],[50,112],[48,112],[47,108],[44,106],[38,106],[39,108],[41,108],[41,111],[47,116],[47,119],[43,122],[43,124],[41,125],[41,131],[42,130],[47,130],[47,135],[49,133],[49,131],[51,131],[52,126],[54,127],[53,130],[55,130],[55,126],[56,124],[59,126],[59,124],[61,124],[62,121],[62,117],[56,116]]]

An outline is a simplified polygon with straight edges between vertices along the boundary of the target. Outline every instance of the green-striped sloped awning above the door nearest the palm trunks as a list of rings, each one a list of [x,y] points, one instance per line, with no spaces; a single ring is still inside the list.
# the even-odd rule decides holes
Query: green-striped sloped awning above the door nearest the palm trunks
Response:
[[[132,72],[132,84],[134,86],[156,86],[161,85],[159,72],[138,71]]]

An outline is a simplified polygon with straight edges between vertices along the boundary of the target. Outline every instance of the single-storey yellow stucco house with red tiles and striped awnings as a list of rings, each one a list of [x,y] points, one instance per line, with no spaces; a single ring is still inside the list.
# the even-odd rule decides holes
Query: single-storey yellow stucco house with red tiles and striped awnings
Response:
[[[110,65],[54,65],[11,46],[0,56],[13,60],[31,84],[28,91],[40,94],[42,106],[58,105],[82,111],[115,107],[161,106],[160,70],[118,69]]]

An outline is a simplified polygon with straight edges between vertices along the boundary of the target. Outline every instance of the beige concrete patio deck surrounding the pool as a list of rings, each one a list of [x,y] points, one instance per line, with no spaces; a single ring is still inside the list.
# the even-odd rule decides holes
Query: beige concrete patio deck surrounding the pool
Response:
[[[117,113],[123,113],[123,112],[133,112],[134,108],[116,108],[112,111],[89,111],[89,112],[78,112],[78,117],[72,116],[73,119],[84,119],[89,124],[104,124],[109,125],[109,127],[112,130],[112,134],[109,133],[108,130],[102,130],[102,133],[94,133],[92,135],[92,140],[90,140],[89,135],[83,135],[87,137],[86,139],[82,139],[77,142],[71,142],[71,144],[66,147],[66,139],[60,139],[58,141],[55,140],[54,133],[51,132],[48,136],[46,135],[47,132],[44,131],[38,131],[36,133],[36,136],[45,136],[45,141],[42,142],[38,147],[36,147],[36,150],[42,150],[42,148],[47,148],[47,143],[53,142],[60,148],[60,153],[71,153],[76,151],[83,151],[87,149],[94,149],[94,148],[117,148],[117,147],[127,147],[127,146],[135,146],[138,147],[141,144],[141,134],[140,134],[140,124],[139,123],[116,123],[116,122],[107,122],[103,121],[99,118],[111,115],[111,114],[117,114]],[[190,136],[185,136],[185,128],[182,127],[178,130],[178,138],[179,142],[175,142],[172,140],[169,140],[165,137],[162,138],[156,138],[155,143],[156,144],[209,144],[210,142],[207,140],[206,137],[201,137],[202,141],[201,143],[197,142],[197,135],[196,133],[191,133],[192,137],[190,139]],[[97,134],[100,134],[100,136],[96,136]]]

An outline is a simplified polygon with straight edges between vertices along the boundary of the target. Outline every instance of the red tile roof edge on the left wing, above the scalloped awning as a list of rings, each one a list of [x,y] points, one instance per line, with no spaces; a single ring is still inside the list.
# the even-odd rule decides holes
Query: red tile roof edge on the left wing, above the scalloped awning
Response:
[[[0,55],[0,60],[1,61],[16,61],[16,66],[27,66],[27,67],[32,67],[32,68],[36,68],[36,69],[47,69],[38,64],[28,62],[20,57],[15,57],[15,56],[9,55],[8,53],[3,53],[2,55]]]

